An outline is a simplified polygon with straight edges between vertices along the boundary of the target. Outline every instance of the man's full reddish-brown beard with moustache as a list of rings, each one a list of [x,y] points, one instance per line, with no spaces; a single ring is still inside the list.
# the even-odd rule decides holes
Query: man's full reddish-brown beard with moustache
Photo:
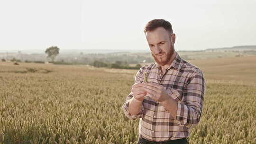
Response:
[[[161,54],[164,54],[165,56],[157,57],[158,55],[161,55]],[[171,57],[173,54],[174,54],[174,46],[173,45],[170,46],[170,51],[168,51],[167,53],[162,51],[161,53],[155,55],[155,54],[152,54],[152,52],[151,52],[151,55],[153,56],[155,62],[161,66],[166,65],[171,60]]]

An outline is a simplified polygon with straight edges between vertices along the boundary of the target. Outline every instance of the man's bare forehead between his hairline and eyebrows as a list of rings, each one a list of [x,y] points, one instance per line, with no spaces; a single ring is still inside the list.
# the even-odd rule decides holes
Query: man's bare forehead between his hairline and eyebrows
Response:
[[[167,40],[169,32],[164,27],[157,27],[153,31],[146,32],[146,40],[148,43],[157,43],[159,41]]]

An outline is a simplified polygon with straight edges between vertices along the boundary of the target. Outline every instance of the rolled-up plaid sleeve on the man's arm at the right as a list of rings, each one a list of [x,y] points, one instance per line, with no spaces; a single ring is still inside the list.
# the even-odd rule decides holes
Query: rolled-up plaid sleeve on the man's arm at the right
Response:
[[[205,80],[201,70],[193,72],[183,90],[183,100],[178,102],[176,122],[179,126],[193,128],[198,125],[203,107]],[[179,99],[178,93],[173,97]],[[174,98],[175,99],[175,98]]]

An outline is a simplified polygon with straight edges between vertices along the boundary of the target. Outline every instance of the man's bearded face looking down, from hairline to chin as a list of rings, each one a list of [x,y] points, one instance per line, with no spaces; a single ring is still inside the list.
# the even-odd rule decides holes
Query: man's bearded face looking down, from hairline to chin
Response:
[[[175,34],[170,34],[164,27],[157,27],[146,32],[146,40],[155,62],[161,66],[170,62],[174,54]]]

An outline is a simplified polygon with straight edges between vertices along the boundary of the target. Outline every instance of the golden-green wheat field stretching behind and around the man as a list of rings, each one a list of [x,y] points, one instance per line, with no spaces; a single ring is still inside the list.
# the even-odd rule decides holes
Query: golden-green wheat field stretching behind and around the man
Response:
[[[256,56],[193,60],[207,91],[190,144],[256,144]],[[0,144],[137,144],[137,70],[0,62]]]

